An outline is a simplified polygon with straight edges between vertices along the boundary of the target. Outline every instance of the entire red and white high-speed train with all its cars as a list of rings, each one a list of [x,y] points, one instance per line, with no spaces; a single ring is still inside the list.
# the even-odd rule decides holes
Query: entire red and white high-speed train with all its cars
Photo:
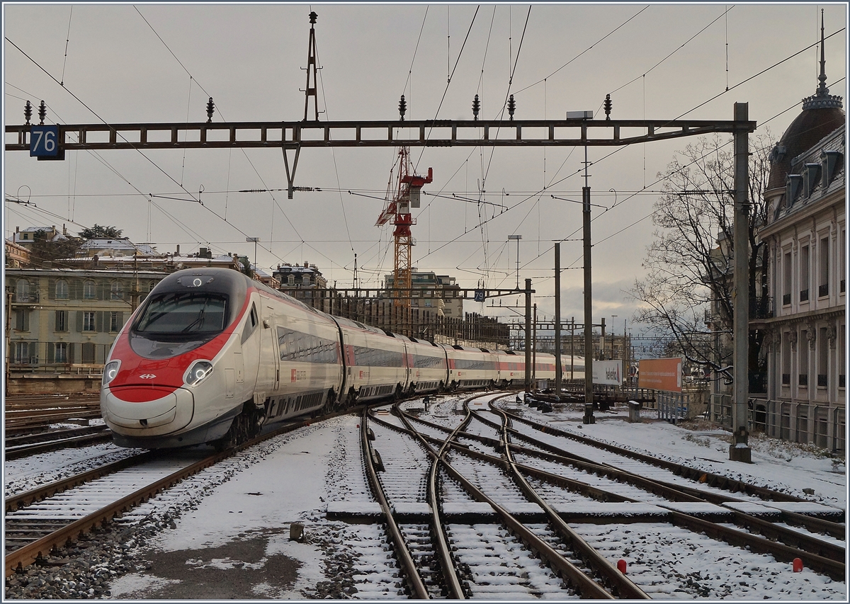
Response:
[[[536,380],[554,375],[553,356],[537,354]],[[190,268],[162,279],[124,325],[100,408],[121,446],[226,444],[323,408],[516,386],[524,376],[524,355],[417,341],[321,313],[229,268]]]

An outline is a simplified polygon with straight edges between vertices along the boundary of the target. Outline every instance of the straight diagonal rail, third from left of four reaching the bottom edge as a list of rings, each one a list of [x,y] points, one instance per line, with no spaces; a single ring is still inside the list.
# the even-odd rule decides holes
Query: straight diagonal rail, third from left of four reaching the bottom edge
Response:
[[[408,426],[408,429],[411,430],[411,432],[418,433],[412,428],[409,422],[406,421],[406,414],[402,413],[400,417],[402,421],[405,422],[405,426]],[[428,437],[425,437],[425,439],[427,441],[430,440]],[[430,445],[428,446],[428,449],[430,450],[430,454],[436,455],[436,452],[433,451]],[[581,593],[582,598],[592,598],[597,600],[614,599],[614,596],[612,596],[609,591],[605,590],[604,587],[596,583],[596,581],[594,581],[591,577],[588,577],[581,568],[576,567],[575,564],[564,558],[558,550],[555,550],[551,545],[547,544],[547,542],[541,539],[534,531],[526,527],[522,522],[519,522],[519,520],[513,517],[510,512],[501,507],[501,505],[498,505],[496,501],[490,499],[490,497],[484,494],[484,492],[473,483],[469,482],[461,472],[457,471],[447,460],[445,460],[445,454],[442,457],[439,457],[439,462],[442,463],[445,471],[447,471],[450,476],[454,477],[458,483],[462,484],[463,488],[467,490],[467,493],[472,495],[474,500],[489,504],[508,530],[518,539],[522,540],[523,543],[530,548],[530,550],[535,551],[541,559],[546,561],[549,567],[551,567],[555,573],[558,573],[558,576],[562,579],[566,579],[576,591]]]

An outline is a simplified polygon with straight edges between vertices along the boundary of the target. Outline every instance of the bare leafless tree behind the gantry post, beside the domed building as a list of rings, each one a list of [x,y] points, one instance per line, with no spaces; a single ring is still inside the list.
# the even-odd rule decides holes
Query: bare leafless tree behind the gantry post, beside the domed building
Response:
[[[767,246],[758,239],[766,222],[770,133],[750,140],[749,289],[751,314],[766,313]],[[642,303],[633,320],[669,340],[690,364],[731,381],[734,285],[734,150],[715,135],[689,144],[659,173],[664,194],[655,202],[655,241],[647,248],[645,279],[627,293]],[[764,316],[762,314],[762,316]],[[708,329],[706,330],[706,326]],[[750,333],[749,371],[763,375],[763,334]]]

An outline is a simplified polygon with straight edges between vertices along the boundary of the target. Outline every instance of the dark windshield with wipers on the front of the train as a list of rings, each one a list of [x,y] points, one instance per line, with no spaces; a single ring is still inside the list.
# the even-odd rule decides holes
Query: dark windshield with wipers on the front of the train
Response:
[[[196,339],[220,333],[227,326],[227,296],[201,291],[169,291],[146,305],[133,325],[142,336]]]

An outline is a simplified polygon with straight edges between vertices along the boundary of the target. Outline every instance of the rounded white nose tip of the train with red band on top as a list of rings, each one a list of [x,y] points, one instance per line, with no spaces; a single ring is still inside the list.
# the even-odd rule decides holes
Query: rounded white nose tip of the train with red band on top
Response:
[[[195,398],[186,388],[105,387],[100,408],[113,432],[128,437],[162,436],[189,425]]]

